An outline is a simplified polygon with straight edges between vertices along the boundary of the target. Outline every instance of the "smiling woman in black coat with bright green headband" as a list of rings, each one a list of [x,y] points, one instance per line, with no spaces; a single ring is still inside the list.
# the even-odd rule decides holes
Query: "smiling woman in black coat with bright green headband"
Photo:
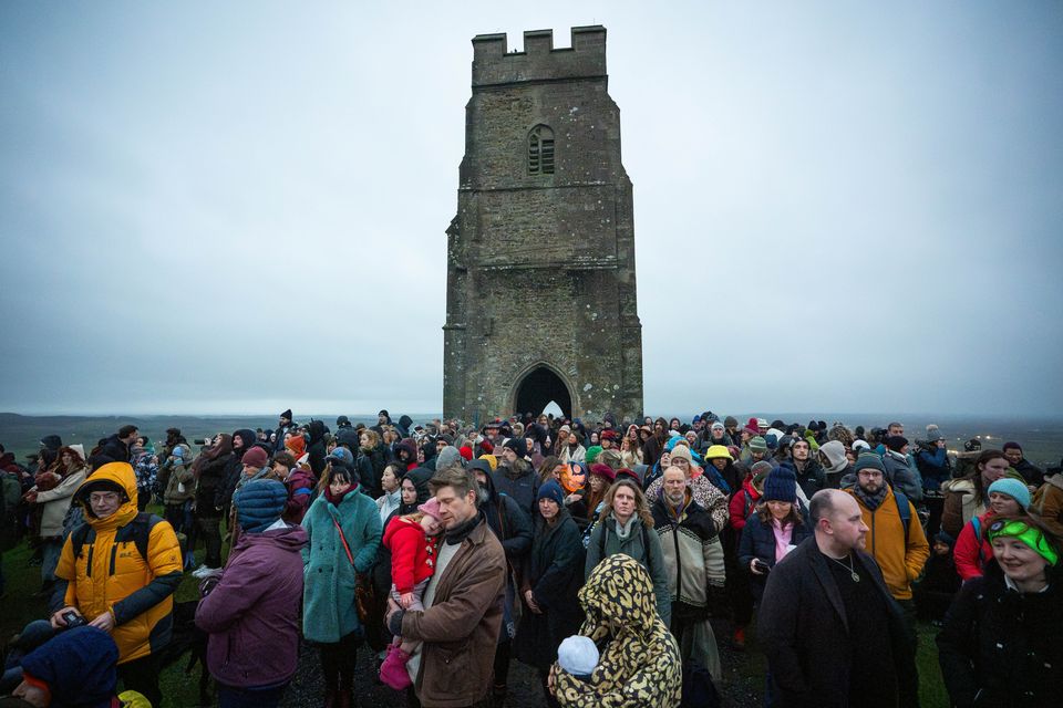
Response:
[[[993,560],[960,589],[938,635],[953,706],[1059,706],[1063,696],[1060,539],[1036,517],[998,517]]]

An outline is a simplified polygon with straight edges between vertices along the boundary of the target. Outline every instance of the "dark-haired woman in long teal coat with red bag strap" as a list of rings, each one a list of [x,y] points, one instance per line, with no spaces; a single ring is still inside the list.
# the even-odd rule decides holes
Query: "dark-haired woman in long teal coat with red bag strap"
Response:
[[[327,705],[345,706],[363,634],[354,604],[355,573],[368,573],[376,558],[380,513],[342,460],[330,457],[323,475],[324,493],[302,519],[310,537],[302,549],[302,634],[321,647]]]

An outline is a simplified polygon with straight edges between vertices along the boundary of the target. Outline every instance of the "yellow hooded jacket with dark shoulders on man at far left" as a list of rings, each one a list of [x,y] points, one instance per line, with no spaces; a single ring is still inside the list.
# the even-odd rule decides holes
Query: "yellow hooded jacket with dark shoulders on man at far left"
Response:
[[[169,642],[173,595],[182,579],[180,546],[173,527],[153,517],[147,558],[143,558],[133,535],[137,517],[133,468],[125,462],[104,465],[78,488],[74,498],[82,499],[85,486],[100,480],[124,489],[126,500],[106,519],[97,519],[87,502],[84,504],[91,529],[76,558],[72,542],[76,531],[68,537],[55,576],[68,581],[65,604],[76,607],[86,621],[111,613],[118,664],[125,664]]]

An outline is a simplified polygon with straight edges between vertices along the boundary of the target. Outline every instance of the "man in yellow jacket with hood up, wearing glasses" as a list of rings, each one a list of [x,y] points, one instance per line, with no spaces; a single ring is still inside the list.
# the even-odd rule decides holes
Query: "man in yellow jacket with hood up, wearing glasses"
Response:
[[[126,462],[93,472],[74,500],[85,509],[85,523],[63,544],[55,576],[66,582],[65,606],[52,615],[52,626],[73,621],[110,633],[125,688],[158,706],[157,652],[169,643],[182,579],[177,535],[166,521],[138,513],[136,477]]]

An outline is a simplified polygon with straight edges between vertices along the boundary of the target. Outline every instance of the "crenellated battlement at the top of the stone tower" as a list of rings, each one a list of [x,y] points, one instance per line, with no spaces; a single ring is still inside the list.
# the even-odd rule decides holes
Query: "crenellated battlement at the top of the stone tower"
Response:
[[[506,34],[473,38],[473,86],[606,76],[606,28],[574,27],[572,45],[554,49],[554,30],[524,33],[524,51],[509,52]]]

